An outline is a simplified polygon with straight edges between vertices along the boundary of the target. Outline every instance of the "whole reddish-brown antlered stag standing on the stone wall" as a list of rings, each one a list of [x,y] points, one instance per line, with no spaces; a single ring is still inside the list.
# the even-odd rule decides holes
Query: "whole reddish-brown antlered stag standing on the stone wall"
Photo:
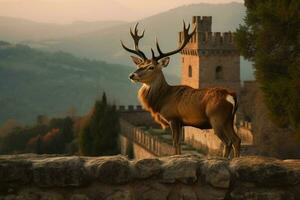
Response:
[[[185,85],[169,85],[162,69],[169,64],[169,56],[180,52],[189,42],[196,27],[189,33],[190,25],[183,22],[184,39],[179,47],[163,53],[156,39],[158,55],[151,48],[152,58],[148,59],[139,48],[139,41],[145,31],[139,35],[138,23],[130,35],[134,48],[130,49],[121,41],[122,47],[137,55],[131,56],[137,70],[130,74],[133,82],[142,83],[138,91],[138,99],[142,106],[151,113],[154,120],[163,128],[172,131],[175,154],[181,154],[182,127],[192,126],[200,129],[213,128],[215,134],[224,144],[223,156],[229,157],[233,149],[233,157],[240,155],[241,140],[234,130],[234,116],[237,110],[237,98],[234,92],[221,87],[194,89]]]

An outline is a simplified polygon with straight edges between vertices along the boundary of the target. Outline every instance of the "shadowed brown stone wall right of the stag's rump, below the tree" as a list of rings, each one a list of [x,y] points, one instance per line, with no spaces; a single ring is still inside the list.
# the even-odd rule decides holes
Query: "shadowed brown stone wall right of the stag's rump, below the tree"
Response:
[[[300,142],[291,129],[277,127],[269,116],[261,86],[256,81],[244,82],[239,113],[251,121],[253,143],[258,153],[278,158],[299,158]]]

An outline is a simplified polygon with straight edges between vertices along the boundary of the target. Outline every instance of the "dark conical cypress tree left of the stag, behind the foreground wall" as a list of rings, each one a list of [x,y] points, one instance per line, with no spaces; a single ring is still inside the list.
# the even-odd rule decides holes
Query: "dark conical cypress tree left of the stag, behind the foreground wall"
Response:
[[[80,153],[99,156],[119,153],[119,116],[116,107],[107,103],[106,95],[95,102],[92,113],[79,134]]]

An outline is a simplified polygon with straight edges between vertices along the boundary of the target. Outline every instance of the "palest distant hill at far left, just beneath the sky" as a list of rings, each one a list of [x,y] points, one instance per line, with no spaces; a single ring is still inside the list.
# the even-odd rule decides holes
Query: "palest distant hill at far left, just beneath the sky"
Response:
[[[121,25],[123,21],[77,21],[72,24],[39,23],[0,16],[0,39],[10,42],[40,41],[81,35]]]

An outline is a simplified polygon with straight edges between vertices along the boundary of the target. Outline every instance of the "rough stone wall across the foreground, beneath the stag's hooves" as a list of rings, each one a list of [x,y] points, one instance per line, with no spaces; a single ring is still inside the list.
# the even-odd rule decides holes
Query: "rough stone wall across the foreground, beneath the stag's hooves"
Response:
[[[299,199],[300,160],[0,156],[0,199]]]

